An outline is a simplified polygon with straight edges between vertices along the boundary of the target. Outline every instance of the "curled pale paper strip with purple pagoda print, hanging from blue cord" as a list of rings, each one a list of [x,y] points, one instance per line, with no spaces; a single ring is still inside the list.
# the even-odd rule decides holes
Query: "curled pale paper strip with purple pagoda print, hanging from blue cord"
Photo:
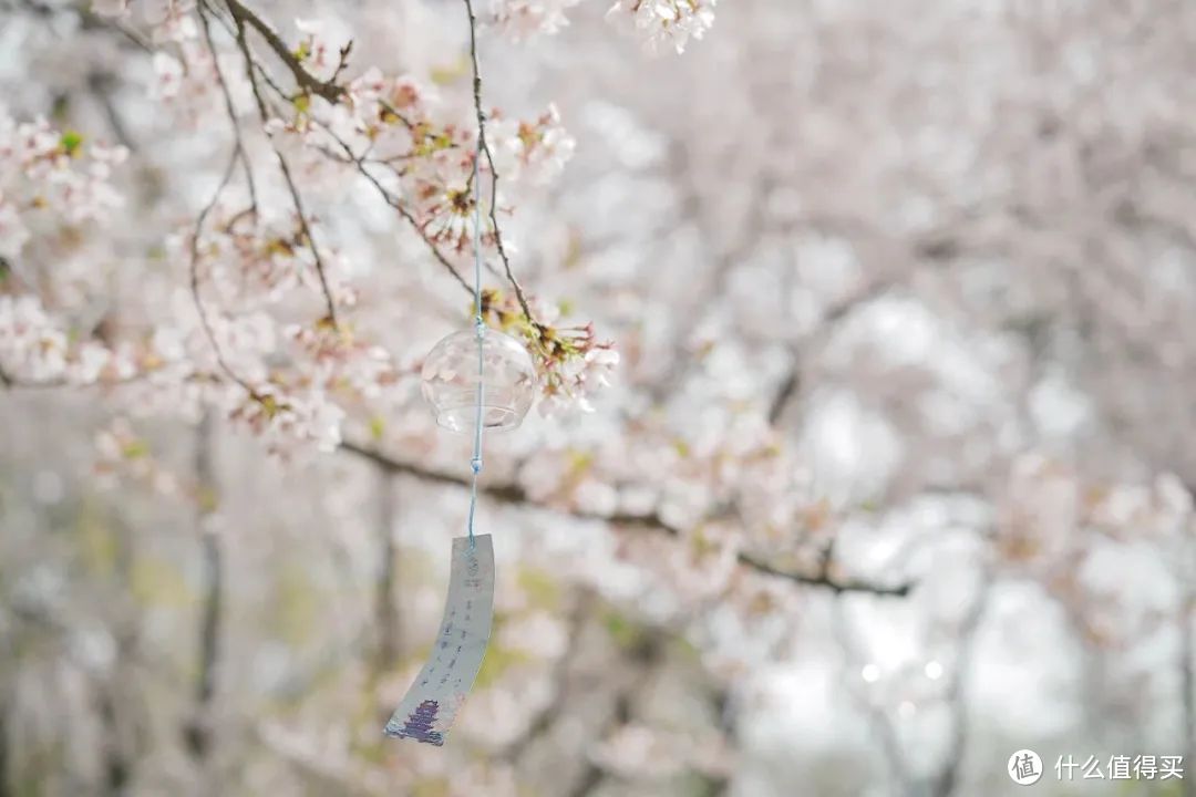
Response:
[[[494,545],[489,534],[452,541],[448,599],[428,661],[407,691],[385,732],[444,744],[457,710],[474,686],[490,640],[494,614]]]

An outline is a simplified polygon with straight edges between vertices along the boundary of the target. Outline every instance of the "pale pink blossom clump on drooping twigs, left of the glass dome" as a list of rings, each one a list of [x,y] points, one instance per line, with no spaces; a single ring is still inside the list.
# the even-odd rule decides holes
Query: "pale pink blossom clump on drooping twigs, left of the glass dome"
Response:
[[[191,245],[184,233],[175,251],[184,258]],[[191,330],[191,356],[224,381],[239,382],[230,417],[279,454],[306,443],[335,449],[346,416],[337,397],[376,396],[395,376],[385,350],[354,339],[347,320],[323,315],[316,252],[334,305],[346,311],[356,296],[338,252],[317,246],[294,219],[258,222],[242,211],[222,211],[194,241],[205,318]],[[319,307],[321,317],[281,320],[287,307],[304,305]]]

